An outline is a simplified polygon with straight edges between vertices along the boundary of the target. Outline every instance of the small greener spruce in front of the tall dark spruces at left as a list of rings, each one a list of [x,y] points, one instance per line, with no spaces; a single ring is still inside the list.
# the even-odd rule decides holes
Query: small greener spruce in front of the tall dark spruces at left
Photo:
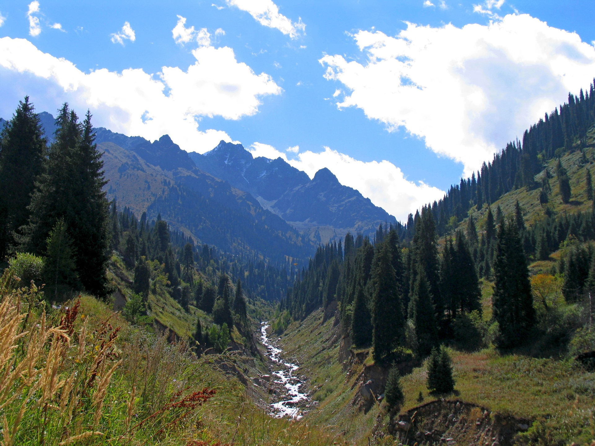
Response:
[[[56,222],[49,233],[46,246],[43,268],[46,296],[58,300],[62,293],[80,287],[74,263],[73,242],[62,219]]]

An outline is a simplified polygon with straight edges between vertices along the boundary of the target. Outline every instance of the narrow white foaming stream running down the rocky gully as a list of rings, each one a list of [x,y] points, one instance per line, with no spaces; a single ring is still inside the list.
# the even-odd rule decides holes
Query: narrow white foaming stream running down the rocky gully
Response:
[[[273,341],[268,338],[268,322],[262,322],[261,325],[261,342],[267,347],[267,356],[273,363],[271,373],[278,378],[275,382],[285,389],[285,395],[280,397],[280,401],[271,404],[271,414],[278,418],[289,416],[299,420],[303,416],[302,409],[300,409],[301,401],[309,399],[308,394],[300,391],[303,382],[295,375],[299,366],[283,362],[281,359],[283,350],[274,346]]]

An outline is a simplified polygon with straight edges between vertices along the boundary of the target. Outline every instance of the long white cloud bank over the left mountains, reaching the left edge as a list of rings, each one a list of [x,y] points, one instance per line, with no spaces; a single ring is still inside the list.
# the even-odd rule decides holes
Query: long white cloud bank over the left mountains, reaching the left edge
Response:
[[[237,62],[231,48],[195,49],[187,70],[162,67],[154,76],[141,69],[121,73],[105,68],[83,73],[72,62],[39,51],[25,39],[0,39],[0,116],[10,116],[24,95],[39,111],[55,111],[67,101],[93,123],[130,136],[154,140],[163,134],[184,150],[206,152],[223,131],[199,131],[201,117],[237,120],[258,112],[259,98],[281,88],[268,74]]]

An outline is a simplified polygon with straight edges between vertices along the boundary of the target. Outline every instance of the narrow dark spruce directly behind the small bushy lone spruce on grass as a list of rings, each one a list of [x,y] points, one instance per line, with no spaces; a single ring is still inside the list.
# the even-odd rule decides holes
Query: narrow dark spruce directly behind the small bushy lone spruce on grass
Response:
[[[419,268],[417,273],[413,295],[409,301],[408,315],[415,325],[418,342],[417,353],[419,356],[425,356],[436,345],[438,333],[430,284],[428,284],[428,279],[422,268]]]

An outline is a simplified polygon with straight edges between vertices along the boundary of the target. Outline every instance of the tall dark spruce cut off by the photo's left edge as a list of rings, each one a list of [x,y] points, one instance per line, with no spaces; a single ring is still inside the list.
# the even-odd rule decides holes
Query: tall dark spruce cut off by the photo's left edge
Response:
[[[46,140],[29,96],[18,103],[0,136],[0,260],[29,222],[31,194],[43,172]]]

